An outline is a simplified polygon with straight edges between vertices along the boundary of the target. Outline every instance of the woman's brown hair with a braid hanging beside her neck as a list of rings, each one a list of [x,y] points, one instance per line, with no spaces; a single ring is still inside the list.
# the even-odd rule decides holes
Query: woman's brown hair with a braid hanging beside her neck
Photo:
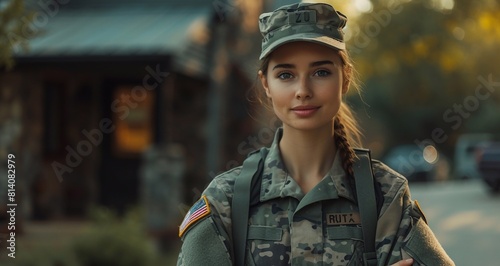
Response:
[[[344,84],[343,86],[349,86],[354,88],[359,93],[359,83],[357,79],[357,72],[354,69],[352,60],[350,59],[348,53],[343,50],[339,50],[338,54],[342,60],[342,74]],[[260,70],[264,75],[267,74],[269,66],[269,56],[265,57],[261,61]],[[260,82],[258,82],[260,83]],[[264,105],[266,108],[272,110],[271,102],[266,97],[264,90],[258,86],[255,86],[255,93],[259,103]],[[340,109],[334,118],[334,132],[335,132],[335,145],[339,149],[340,156],[342,157],[342,167],[348,175],[354,176],[352,165],[356,154],[352,147],[361,147],[361,131],[358,126],[358,122],[352,112],[351,108],[342,101],[340,103]]]

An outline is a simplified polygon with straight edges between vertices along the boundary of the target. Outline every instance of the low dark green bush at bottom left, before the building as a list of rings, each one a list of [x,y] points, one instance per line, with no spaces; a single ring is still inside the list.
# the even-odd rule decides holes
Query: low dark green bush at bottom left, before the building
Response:
[[[148,266],[157,252],[147,237],[138,211],[119,219],[106,209],[91,212],[94,224],[73,244],[82,266]]]

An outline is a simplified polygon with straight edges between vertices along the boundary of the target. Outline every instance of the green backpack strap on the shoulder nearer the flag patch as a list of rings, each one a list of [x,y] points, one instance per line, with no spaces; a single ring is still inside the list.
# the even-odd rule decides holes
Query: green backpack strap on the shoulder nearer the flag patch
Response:
[[[260,186],[260,182],[258,182],[260,180],[259,176],[264,168],[267,152],[267,148],[261,148],[250,153],[243,162],[239,176],[234,181],[231,227],[233,231],[233,263],[235,266],[243,266],[245,262],[250,194],[252,191],[260,191],[260,187],[259,189],[254,188]]]

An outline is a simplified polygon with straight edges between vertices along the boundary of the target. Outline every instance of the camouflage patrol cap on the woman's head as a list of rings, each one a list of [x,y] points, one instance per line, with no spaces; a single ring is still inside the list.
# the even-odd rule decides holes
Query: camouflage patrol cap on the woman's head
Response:
[[[262,52],[259,59],[277,47],[295,41],[308,41],[344,50],[347,17],[331,5],[298,3],[286,5],[259,16]]]

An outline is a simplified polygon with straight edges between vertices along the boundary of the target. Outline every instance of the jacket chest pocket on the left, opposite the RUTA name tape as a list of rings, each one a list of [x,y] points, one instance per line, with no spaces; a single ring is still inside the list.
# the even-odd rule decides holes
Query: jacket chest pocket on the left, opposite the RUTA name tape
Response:
[[[284,237],[283,232],[279,227],[250,225],[247,236],[247,265],[288,265],[290,245],[287,244],[287,237]]]

